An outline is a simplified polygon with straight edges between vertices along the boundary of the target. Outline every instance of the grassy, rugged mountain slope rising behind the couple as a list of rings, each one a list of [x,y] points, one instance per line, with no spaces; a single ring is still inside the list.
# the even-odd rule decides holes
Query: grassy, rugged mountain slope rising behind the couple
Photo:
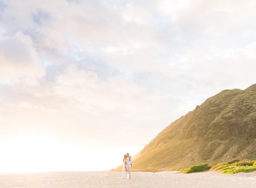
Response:
[[[163,171],[231,159],[256,159],[256,84],[206,99],[147,144],[132,168]]]

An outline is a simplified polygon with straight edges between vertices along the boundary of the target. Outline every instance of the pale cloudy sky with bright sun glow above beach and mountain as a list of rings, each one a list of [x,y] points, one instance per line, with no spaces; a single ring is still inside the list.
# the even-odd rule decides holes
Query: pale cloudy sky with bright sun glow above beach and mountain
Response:
[[[0,172],[100,171],[256,83],[255,0],[0,0]]]

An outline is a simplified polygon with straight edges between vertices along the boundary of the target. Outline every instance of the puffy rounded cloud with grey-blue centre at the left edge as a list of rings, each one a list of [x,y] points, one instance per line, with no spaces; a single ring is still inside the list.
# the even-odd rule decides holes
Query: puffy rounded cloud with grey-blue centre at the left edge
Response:
[[[21,32],[0,41],[0,79],[25,85],[38,84],[45,75],[31,37]]]

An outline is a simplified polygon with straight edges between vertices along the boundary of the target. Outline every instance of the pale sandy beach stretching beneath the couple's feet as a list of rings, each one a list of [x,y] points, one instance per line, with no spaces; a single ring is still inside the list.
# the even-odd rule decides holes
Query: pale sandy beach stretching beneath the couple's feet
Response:
[[[1,188],[255,188],[256,172],[219,174],[200,172],[133,172],[122,180],[120,172],[46,172],[1,175]]]

